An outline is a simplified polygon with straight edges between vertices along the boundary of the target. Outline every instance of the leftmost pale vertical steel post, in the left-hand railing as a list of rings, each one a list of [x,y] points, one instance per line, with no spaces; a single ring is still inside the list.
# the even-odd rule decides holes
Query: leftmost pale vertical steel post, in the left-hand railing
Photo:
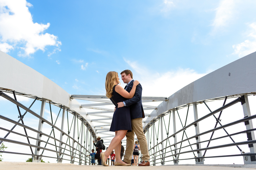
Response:
[[[45,114],[45,102],[46,100],[43,99],[42,100],[42,104],[41,104],[41,111],[40,111],[40,116],[44,117]],[[38,131],[42,132],[42,127],[43,127],[43,121],[41,119],[39,119],[39,124],[38,124]],[[41,139],[41,134],[37,133],[37,137],[36,139]],[[36,146],[40,146],[40,143],[38,140],[36,140]],[[35,148],[35,155],[39,155],[39,148]],[[39,158],[38,156],[33,156],[32,162],[41,162],[41,158]]]

